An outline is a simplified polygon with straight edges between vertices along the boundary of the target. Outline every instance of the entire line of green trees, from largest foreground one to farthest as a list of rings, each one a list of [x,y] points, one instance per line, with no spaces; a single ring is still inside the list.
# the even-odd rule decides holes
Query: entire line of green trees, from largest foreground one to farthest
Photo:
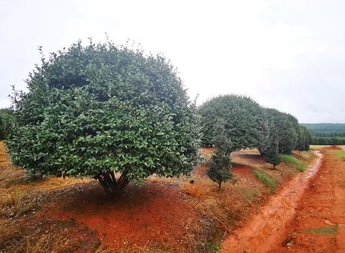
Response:
[[[209,176],[219,183],[232,178],[232,151],[257,147],[275,166],[279,153],[306,150],[310,140],[295,117],[249,97],[222,95],[196,108],[164,57],[111,41],[78,41],[42,57],[26,83],[27,93],[12,95],[13,164],[95,178],[109,194],[152,174],[189,174],[201,142],[216,146]]]

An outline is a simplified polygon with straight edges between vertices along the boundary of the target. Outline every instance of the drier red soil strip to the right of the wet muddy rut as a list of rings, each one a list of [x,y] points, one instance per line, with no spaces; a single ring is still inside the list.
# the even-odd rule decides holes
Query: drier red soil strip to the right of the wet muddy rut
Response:
[[[288,248],[282,241],[272,252],[345,252],[345,162],[326,152],[317,177],[299,201],[297,214],[283,230]],[[336,234],[289,234],[320,227],[339,226]]]

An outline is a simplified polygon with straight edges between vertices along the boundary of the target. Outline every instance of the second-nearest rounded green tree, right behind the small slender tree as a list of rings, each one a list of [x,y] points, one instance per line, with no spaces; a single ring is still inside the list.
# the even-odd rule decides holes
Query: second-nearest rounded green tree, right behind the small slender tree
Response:
[[[261,110],[257,102],[241,95],[219,95],[207,100],[198,109],[202,144],[214,144],[214,126],[221,119],[225,122],[225,135],[231,140],[230,152],[257,147]]]

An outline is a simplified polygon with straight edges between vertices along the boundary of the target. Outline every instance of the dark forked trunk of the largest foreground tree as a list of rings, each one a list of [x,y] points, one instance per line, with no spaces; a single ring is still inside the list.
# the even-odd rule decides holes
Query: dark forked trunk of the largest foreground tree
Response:
[[[105,171],[99,176],[95,177],[102,185],[104,192],[109,196],[119,196],[122,191],[129,184],[127,171],[124,171],[120,178],[116,179],[113,171]]]

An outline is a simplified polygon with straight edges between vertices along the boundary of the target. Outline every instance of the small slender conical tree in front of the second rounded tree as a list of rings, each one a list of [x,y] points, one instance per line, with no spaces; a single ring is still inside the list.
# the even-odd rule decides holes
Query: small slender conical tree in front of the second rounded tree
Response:
[[[223,120],[218,120],[214,127],[214,148],[215,154],[211,158],[207,176],[214,181],[218,182],[219,190],[221,190],[221,183],[227,182],[234,177],[230,169],[231,159],[230,151],[232,144],[225,134],[225,127]]]

